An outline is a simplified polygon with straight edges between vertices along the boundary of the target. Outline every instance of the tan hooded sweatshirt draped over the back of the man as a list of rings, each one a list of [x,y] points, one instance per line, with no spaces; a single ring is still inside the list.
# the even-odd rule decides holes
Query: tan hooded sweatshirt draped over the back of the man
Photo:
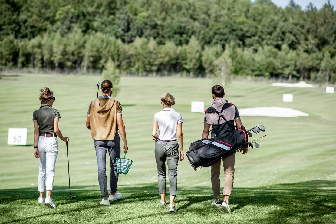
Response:
[[[99,105],[99,99],[91,102],[90,128],[92,139],[113,140],[117,130],[117,101],[110,98],[103,106]]]

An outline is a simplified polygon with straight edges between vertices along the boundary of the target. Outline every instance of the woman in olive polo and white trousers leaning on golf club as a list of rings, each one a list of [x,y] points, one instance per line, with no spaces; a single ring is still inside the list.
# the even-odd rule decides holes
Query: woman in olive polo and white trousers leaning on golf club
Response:
[[[56,205],[50,198],[53,191],[55,163],[57,158],[57,136],[65,142],[68,137],[63,137],[58,129],[58,119],[60,118],[57,109],[52,108],[55,97],[52,91],[45,87],[40,90],[40,109],[33,113],[34,122],[34,156],[39,160],[38,191],[40,192],[39,203],[44,203],[53,209]],[[46,197],[44,198],[44,186],[46,187]]]

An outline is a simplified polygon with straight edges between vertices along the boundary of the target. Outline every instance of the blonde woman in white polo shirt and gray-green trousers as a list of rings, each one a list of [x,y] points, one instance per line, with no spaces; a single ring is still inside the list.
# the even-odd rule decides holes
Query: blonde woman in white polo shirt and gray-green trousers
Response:
[[[158,166],[159,194],[161,196],[160,205],[164,206],[166,193],[166,161],[169,175],[169,212],[176,212],[174,200],[177,189],[177,164],[178,159],[184,159],[183,135],[182,135],[182,115],[177,113],[172,105],[175,98],[169,93],[161,96],[163,110],[156,113],[153,118],[152,136],[155,142],[155,160]],[[157,130],[159,128],[159,134]],[[178,142],[177,142],[178,141]],[[178,152],[180,145],[180,153]]]

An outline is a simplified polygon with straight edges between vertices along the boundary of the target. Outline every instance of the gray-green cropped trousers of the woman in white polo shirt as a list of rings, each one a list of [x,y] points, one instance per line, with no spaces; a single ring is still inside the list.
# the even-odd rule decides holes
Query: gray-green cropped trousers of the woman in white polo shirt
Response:
[[[166,193],[166,160],[169,175],[169,195],[176,196],[177,164],[179,159],[177,141],[156,141],[155,160],[158,166],[159,193]]]

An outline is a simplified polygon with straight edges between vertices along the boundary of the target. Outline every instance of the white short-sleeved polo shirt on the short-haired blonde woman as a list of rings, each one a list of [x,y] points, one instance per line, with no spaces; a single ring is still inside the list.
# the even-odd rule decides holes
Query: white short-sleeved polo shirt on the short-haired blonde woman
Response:
[[[154,121],[159,123],[159,139],[163,141],[176,140],[177,124],[183,123],[182,115],[173,108],[164,108],[154,114]]]

